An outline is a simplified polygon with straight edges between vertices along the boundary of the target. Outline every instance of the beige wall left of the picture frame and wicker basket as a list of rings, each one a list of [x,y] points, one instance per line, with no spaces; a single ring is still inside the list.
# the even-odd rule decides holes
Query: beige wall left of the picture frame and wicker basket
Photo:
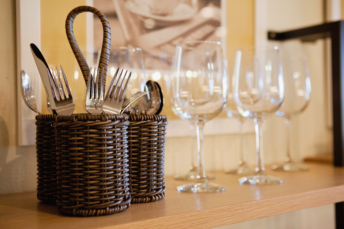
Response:
[[[17,145],[15,1],[0,1],[0,194],[36,188],[35,146]]]

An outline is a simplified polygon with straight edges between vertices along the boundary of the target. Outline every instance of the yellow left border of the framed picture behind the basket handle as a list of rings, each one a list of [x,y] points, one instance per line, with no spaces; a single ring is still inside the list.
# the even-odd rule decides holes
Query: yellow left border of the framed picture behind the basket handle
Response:
[[[75,113],[85,113],[86,84],[69,45],[65,21],[68,13],[77,6],[85,5],[85,0],[41,0],[41,47],[49,67],[62,65],[75,100]],[[86,13],[75,18],[74,35],[80,50],[86,50]],[[78,71],[78,79],[74,72]],[[42,88],[42,112],[47,113],[45,91]]]

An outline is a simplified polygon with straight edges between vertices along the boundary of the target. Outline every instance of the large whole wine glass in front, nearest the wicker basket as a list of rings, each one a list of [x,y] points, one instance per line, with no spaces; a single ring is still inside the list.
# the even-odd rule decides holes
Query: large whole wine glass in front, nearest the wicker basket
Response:
[[[185,42],[176,47],[172,64],[173,109],[195,123],[198,166],[194,183],[177,187],[180,192],[220,192],[225,188],[209,183],[204,168],[205,122],[215,118],[227,101],[227,73],[220,42]]]

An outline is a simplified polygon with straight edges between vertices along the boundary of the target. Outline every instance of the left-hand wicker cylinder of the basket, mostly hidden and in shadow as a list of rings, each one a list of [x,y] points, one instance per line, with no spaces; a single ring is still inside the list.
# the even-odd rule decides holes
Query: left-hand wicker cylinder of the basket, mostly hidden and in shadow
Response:
[[[49,204],[56,204],[57,197],[55,117],[36,116],[37,199]]]

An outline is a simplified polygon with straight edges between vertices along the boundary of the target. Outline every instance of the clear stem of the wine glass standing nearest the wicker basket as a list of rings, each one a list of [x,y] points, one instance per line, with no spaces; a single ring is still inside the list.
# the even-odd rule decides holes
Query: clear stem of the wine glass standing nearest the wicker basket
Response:
[[[207,183],[208,180],[205,176],[205,168],[204,168],[204,122],[198,121],[196,122],[196,130],[197,130],[197,152],[198,152],[198,167],[197,167],[197,181],[196,182],[203,182]]]

